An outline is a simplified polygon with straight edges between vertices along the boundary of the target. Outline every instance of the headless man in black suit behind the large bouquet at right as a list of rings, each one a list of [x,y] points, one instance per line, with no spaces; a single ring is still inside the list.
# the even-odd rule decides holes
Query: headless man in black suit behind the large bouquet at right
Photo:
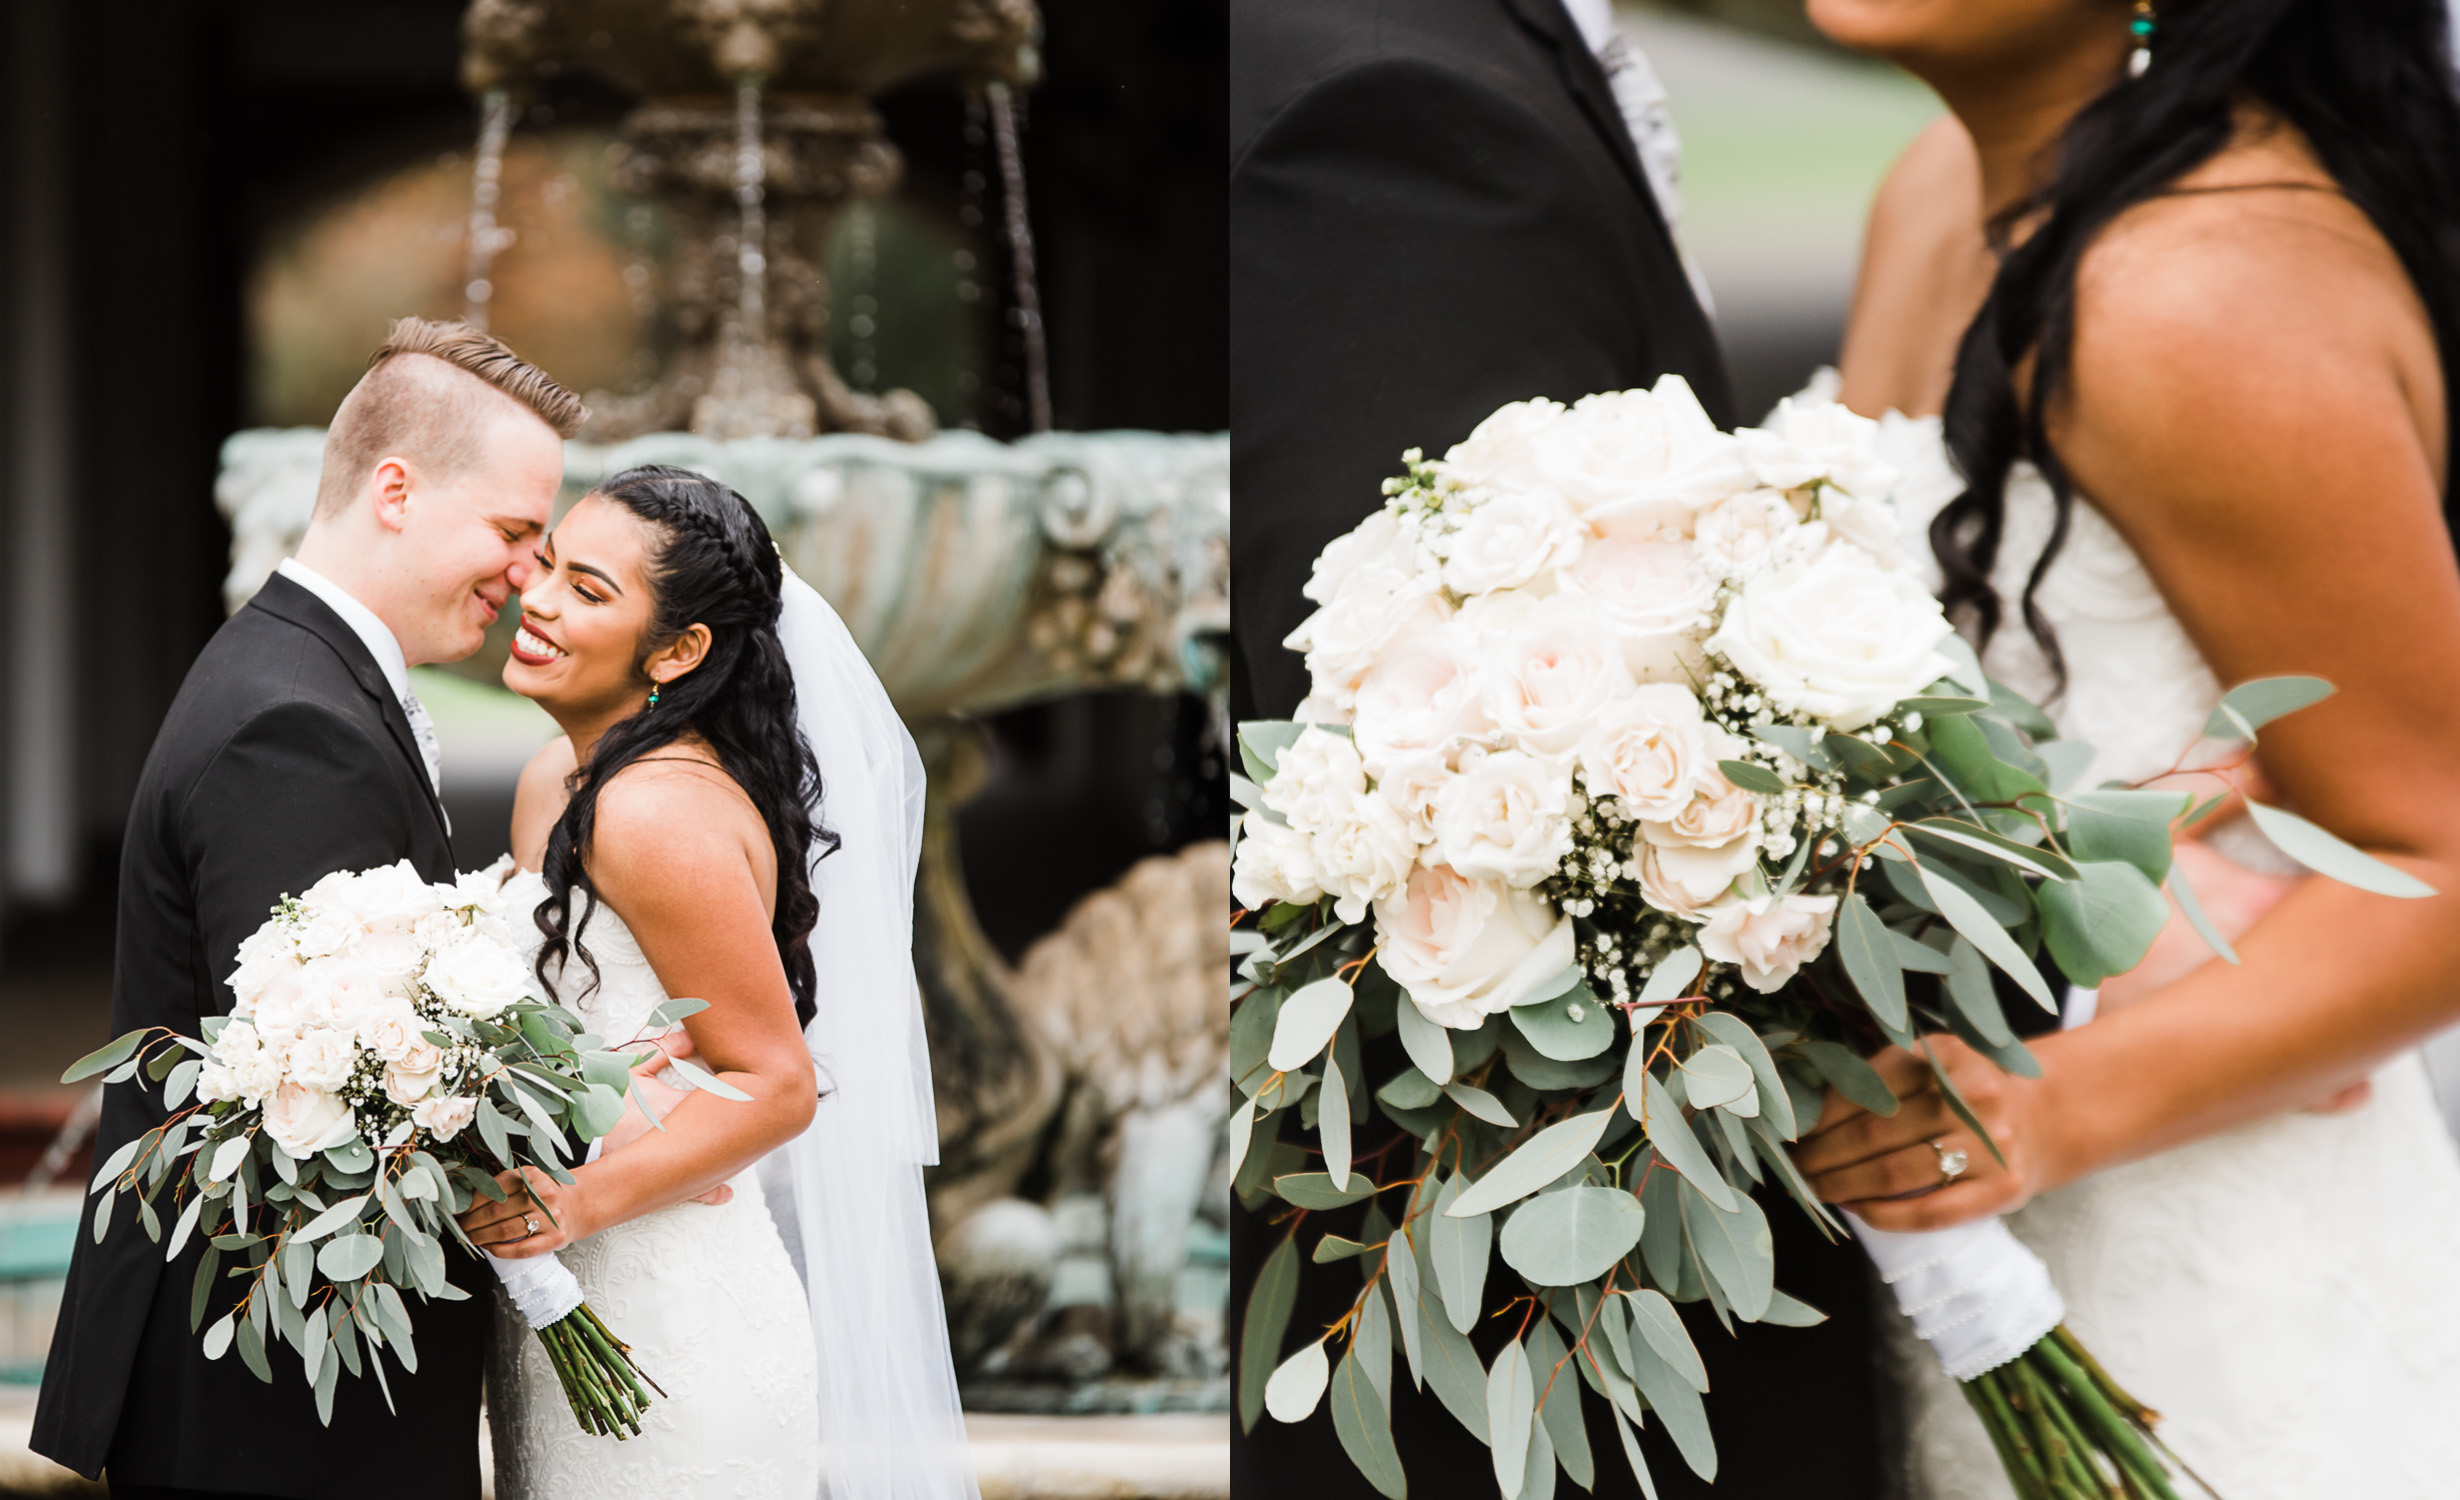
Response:
[[[1442,455],[1506,401],[1660,374],[1720,425],[1737,413],[1660,207],[1670,125],[1609,0],[1235,0],[1230,27],[1232,691],[1240,718],[1287,718],[1306,669],[1282,639],[1311,610],[1309,566],[1380,504],[1405,448]],[[1375,1082],[1405,1062],[1368,1045]],[[1877,1493],[1860,1252],[1823,1244],[1791,1202],[1769,1220],[1779,1281],[1830,1320],[1729,1338],[1685,1308],[1712,1382],[1715,1495],[1860,1500]],[[1235,1286],[1277,1237],[1235,1215]],[[1326,1328],[1355,1286],[1338,1266],[1306,1276],[1292,1335]],[[1412,1498],[1493,1495],[1483,1443],[1432,1394],[1395,1389],[1392,1429]],[[1592,1448],[1599,1495],[1636,1495],[1614,1441]],[[1663,1500],[1710,1493],[1663,1434],[1643,1448]],[[1232,1421],[1232,1493],[1373,1495],[1326,1411],[1252,1436]]]

